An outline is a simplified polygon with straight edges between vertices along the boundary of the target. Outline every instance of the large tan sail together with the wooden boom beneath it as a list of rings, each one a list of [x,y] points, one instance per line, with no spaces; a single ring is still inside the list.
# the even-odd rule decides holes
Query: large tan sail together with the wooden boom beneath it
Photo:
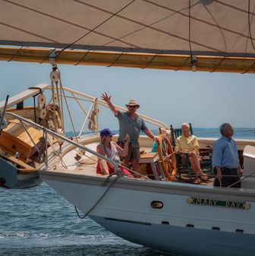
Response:
[[[2,60],[48,62],[54,48],[59,63],[74,65],[255,71],[254,0],[0,0],[0,7]]]

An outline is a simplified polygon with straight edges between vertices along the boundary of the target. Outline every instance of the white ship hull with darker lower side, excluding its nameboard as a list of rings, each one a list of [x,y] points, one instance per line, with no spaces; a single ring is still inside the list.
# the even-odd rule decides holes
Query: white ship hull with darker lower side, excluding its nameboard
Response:
[[[45,180],[83,213],[93,207],[114,178],[41,172]],[[246,201],[247,210],[188,204],[190,197]],[[152,201],[163,203],[153,209]],[[170,182],[118,179],[89,216],[131,242],[184,255],[253,255],[255,194]],[[217,230],[219,229],[219,230]]]

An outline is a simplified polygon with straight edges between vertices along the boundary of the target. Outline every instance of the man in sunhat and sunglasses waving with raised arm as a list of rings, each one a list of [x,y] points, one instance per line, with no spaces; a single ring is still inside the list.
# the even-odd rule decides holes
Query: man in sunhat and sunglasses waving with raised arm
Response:
[[[159,142],[158,138],[154,136],[152,131],[146,127],[146,124],[139,115],[137,115],[137,109],[140,105],[136,100],[130,100],[126,105],[128,108],[127,112],[121,112],[115,108],[111,102],[111,96],[108,96],[107,93],[102,94],[102,100],[107,103],[109,109],[115,114],[115,117],[119,122],[119,137],[118,142],[121,146],[124,145],[124,137],[126,134],[130,137],[129,147],[128,147],[128,156],[124,157],[122,163],[124,166],[128,166],[131,161],[134,172],[139,172],[140,165],[140,146],[139,146],[139,135],[140,131],[143,131],[148,137],[153,139],[153,141]]]

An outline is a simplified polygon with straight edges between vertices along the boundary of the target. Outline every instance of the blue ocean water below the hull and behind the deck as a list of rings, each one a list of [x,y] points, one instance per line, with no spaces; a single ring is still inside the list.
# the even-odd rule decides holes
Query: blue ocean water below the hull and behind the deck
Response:
[[[216,129],[194,129],[219,137]],[[205,132],[210,132],[205,134]],[[251,128],[235,137],[253,138]],[[90,218],[80,220],[74,207],[42,183],[27,190],[0,188],[0,256],[174,255],[134,245],[108,232]]]

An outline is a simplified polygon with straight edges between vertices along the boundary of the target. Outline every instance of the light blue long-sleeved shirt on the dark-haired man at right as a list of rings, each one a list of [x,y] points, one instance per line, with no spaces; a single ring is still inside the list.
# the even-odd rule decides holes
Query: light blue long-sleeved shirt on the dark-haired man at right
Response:
[[[222,136],[214,142],[213,166],[238,168],[238,147],[233,139]]]

